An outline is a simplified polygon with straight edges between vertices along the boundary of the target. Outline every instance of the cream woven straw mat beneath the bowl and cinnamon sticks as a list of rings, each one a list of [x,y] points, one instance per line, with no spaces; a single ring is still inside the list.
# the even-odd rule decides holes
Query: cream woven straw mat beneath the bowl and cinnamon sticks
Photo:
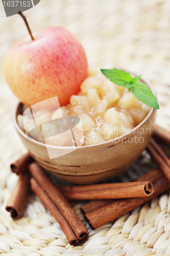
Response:
[[[41,0],[26,13],[32,30],[64,26],[75,33],[87,52],[89,62],[122,67],[147,76],[157,91],[160,111],[157,123],[170,124],[170,2],[166,0]],[[63,231],[37,197],[32,196],[25,217],[13,221],[5,206],[17,182],[9,165],[26,152],[12,123],[16,97],[7,86],[3,61],[8,49],[27,29],[17,15],[5,17],[0,3],[0,253],[1,255],[166,255],[170,251],[170,197],[168,192],[96,230],[80,247],[70,247]],[[9,71],[10,72],[10,71]],[[168,152],[168,148],[165,148]],[[144,152],[119,179],[129,181],[153,167]],[[59,182],[58,180],[56,182]],[[149,250],[153,248],[153,251]],[[109,251],[110,250],[110,251]],[[139,250],[139,251],[138,251]]]

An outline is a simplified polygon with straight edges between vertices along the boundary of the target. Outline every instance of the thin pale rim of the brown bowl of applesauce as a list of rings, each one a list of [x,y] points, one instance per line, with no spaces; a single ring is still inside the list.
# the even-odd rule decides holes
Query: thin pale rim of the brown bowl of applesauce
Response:
[[[127,70],[125,70],[127,71]],[[130,71],[127,71],[129,73],[131,73],[132,75],[134,76],[138,76],[139,74],[135,73],[135,72],[130,72]],[[149,88],[152,90],[152,93],[155,95],[156,97],[156,91],[154,89],[154,86],[153,84],[150,82],[150,80],[148,78],[146,78],[145,76],[141,75],[141,80],[143,80],[148,86]],[[50,145],[50,144],[45,144],[43,142],[40,142],[40,141],[37,141],[31,137],[27,137],[27,135],[25,134],[25,132],[22,131],[22,129],[19,127],[18,123],[17,123],[17,116],[16,116],[16,113],[17,113],[17,110],[19,108],[20,105],[23,105],[21,102],[19,102],[13,112],[13,122],[14,122],[14,125],[15,125],[15,128],[17,130],[17,132],[22,136],[24,137],[25,139],[31,141],[32,143],[34,144],[37,144],[37,145],[40,145],[40,146],[43,146],[43,147],[50,147],[50,148],[56,148],[56,149],[62,149],[62,150],[70,150],[71,146],[54,146],[54,145]],[[123,141],[123,138],[126,138],[127,136],[129,136],[130,134],[134,133],[136,130],[138,130],[144,123],[146,123],[150,117],[154,114],[154,112],[156,112],[156,109],[154,108],[151,108],[151,110],[149,111],[148,115],[137,125],[135,126],[130,132],[124,134],[124,135],[121,135],[119,137],[116,137],[112,140],[108,140],[108,141],[105,141],[105,142],[102,142],[102,143],[99,143],[99,144],[94,144],[94,145],[87,145],[87,146],[76,146],[76,149],[80,149],[80,148],[90,148],[90,147],[96,147],[96,146],[99,146],[99,145],[105,145],[107,143],[110,143],[110,142],[115,142],[116,144],[116,140],[119,140],[121,139],[121,141]],[[72,147],[74,148],[74,147]]]

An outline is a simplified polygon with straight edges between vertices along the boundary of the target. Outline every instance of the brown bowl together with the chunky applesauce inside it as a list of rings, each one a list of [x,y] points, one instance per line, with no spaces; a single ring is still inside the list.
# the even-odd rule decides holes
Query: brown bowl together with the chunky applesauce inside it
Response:
[[[155,94],[146,78],[140,80],[147,83]],[[80,93],[72,95],[69,104],[54,111],[34,112],[34,119],[44,125],[41,130],[38,127],[32,130],[29,138],[25,128],[29,129],[32,117],[25,116],[24,125],[23,109],[20,103],[14,122],[35,161],[69,182],[82,184],[99,182],[123,172],[148,144],[156,114],[155,109],[140,102],[128,89],[117,86],[96,69],[89,70]],[[75,125],[74,137],[71,133],[64,133],[63,120],[56,121],[61,112],[63,116],[80,118],[81,125]],[[60,154],[56,153],[56,157],[50,159],[48,153],[52,150]]]

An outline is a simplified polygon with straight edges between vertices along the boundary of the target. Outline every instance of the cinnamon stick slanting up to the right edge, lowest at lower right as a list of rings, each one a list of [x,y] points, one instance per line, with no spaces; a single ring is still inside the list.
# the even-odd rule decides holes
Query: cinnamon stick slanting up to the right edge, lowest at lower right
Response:
[[[155,181],[153,183],[153,186],[154,193],[151,197],[115,200],[111,204],[88,212],[84,215],[84,218],[89,223],[92,229],[98,228],[102,225],[109,223],[110,221],[117,219],[120,216],[123,216],[128,211],[135,209],[136,207],[142,205],[145,202],[148,202],[149,200],[163,193],[170,188],[170,183],[165,177],[163,177]]]

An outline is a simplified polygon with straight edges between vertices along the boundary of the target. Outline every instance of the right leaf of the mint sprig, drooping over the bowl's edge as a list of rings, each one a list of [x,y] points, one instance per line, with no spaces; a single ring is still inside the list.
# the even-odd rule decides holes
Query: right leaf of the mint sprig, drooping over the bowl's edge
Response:
[[[152,106],[154,109],[159,109],[155,95],[152,93],[147,84],[143,82],[136,82],[133,84],[131,92],[138,100],[142,101],[146,105]]]

